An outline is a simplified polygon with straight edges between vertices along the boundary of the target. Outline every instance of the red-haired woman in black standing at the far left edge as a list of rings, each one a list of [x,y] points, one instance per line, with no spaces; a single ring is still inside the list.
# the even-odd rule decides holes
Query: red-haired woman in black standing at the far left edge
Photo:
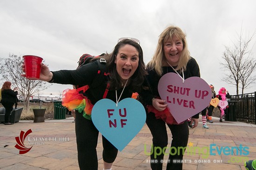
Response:
[[[17,88],[11,89],[11,82],[4,82],[2,91],[2,100],[1,103],[5,107],[5,125],[12,125],[10,123],[10,114],[13,110],[13,105],[16,101],[18,92],[15,91]]]

